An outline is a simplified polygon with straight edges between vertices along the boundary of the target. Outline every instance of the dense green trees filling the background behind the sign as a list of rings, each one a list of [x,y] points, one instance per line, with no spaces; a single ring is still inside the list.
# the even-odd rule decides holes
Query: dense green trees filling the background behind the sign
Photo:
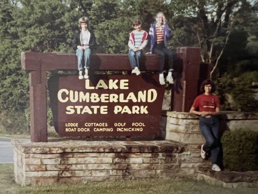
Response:
[[[220,18],[221,8],[229,3],[232,6],[224,12],[225,19],[216,20]],[[143,29],[148,31],[158,11],[165,13],[167,24],[174,31],[173,38],[168,41],[169,48],[200,46],[206,61],[212,44],[212,54],[217,56],[230,30],[229,23],[234,19],[220,72],[240,76],[244,71],[258,71],[258,17],[254,14],[257,6],[247,0],[241,0],[241,3],[235,0],[2,0],[0,110],[15,114],[28,109],[29,81],[28,74],[21,70],[22,51],[73,52],[71,43],[74,31],[78,30],[78,18],[88,16],[96,34],[96,52],[127,53],[133,19],[142,19]],[[247,103],[250,97],[242,100],[249,94],[249,81],[224,82],[226,86],[223,87],[232,90],[230,95],[237,99],[236,105],[226,104],[227,109],[253,110],[249,106],[252,101]],[[244,90],[246,95],[242,95],[245,84],[248,84]],[[220,94],[223,92],[225,90]],[[247,108],[244,108],[245,104],[248,104]]]

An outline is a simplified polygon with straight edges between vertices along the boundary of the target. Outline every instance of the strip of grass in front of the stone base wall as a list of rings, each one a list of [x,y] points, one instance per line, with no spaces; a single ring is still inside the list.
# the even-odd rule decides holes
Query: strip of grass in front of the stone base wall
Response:
[[[225,189],[189,179],[148,179],[21,187],[13,164],[0,164],[0,194],[257,194],[258,188]]]

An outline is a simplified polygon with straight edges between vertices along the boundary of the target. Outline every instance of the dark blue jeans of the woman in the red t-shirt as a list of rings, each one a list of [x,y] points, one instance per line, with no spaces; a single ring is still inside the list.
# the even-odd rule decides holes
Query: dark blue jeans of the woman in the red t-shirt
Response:
[[[211,153],[212,164],[217,163],[220,142],[219,119],[217,116],[212,116],[211,118],[200,117],[199,126],[201,134],[206,140],[203,150]]]

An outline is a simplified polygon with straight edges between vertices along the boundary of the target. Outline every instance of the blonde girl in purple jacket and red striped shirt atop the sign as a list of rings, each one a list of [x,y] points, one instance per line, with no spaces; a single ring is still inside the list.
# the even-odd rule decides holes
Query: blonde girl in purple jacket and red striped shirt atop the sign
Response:
[[[174,53],[172,50],[167,49],[167,40],[171,37],[172,33],[166,24],[164,13],[158,12],[156,15],[156,23],[151,25],[149,31],[150,52],[146,54],[156,53],[159,55],[159,82],[161,85],[166,83],[163,74],[166,72],[165,57],[168,58],[168,74],[166,80],[171,84],[174,83],[172,78]]]

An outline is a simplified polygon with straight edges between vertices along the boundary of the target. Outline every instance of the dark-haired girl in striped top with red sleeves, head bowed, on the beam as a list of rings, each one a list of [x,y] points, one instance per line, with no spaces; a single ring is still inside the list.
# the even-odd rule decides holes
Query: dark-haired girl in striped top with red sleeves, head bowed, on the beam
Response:
[[[141,20],[136,19],[134,21],[134,31],[130,33],[128,46],[128,58],[130,61],[130,65],[132,68],[132,74],[139,75],[140,74],[140,60],[143,55],[142,49],[147,45],[147,36],[148,33],[141,29]]]

